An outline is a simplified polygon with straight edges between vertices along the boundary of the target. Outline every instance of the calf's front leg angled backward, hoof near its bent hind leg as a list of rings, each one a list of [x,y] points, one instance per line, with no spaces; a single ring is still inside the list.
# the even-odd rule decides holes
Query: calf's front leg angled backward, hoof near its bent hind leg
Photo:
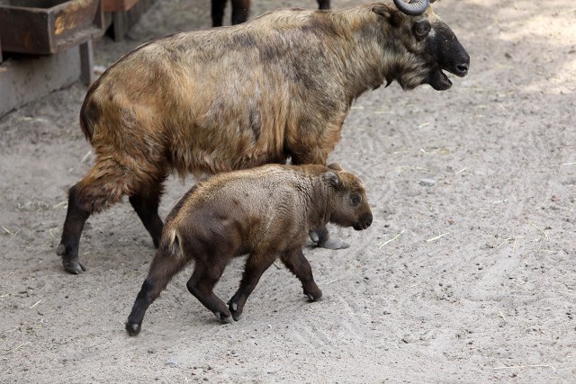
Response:
[[[234,320],[239,320],[248,296],[250,296],[252,290],[256,288],[262,273],[274,263],[274,260],[275,257],[269,257],[263,254],[252,254],[248,256],[240,286],[234,296],[232,296],[232,299],[228,301],[228,306]]]

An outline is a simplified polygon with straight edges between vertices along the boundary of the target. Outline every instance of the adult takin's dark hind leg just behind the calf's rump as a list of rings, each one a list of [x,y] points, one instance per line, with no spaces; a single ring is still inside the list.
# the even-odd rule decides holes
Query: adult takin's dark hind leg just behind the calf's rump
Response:
[[[163,192],[163,183],[166,176],[163,176],[158,181],[154,181],[150,185],[146,185],[140,192],[130,195],[129,200],[132,208],[138,214],[144,228],[152,237],[152,242],[157,248],[160,244],[160,237],[162,236],[162,228],[164,224],[162,219],[158,216],[158,205]]]

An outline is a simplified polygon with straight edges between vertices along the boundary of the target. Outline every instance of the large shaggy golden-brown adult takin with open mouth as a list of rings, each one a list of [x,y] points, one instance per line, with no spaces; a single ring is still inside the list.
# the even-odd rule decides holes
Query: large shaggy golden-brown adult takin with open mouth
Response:
[[[109,67],[80,112],[94,165],[68,192],[57,253],[85,270],[85,220],[129,196],[157,246],[170,173],[217,174],[268,163],[325,165],[351,103],[384,82],[452,85],[470,58],[428,0],[338,11],[279,10],[232,27],[176,33]],[[342,247],[326,228],[319,246]]]

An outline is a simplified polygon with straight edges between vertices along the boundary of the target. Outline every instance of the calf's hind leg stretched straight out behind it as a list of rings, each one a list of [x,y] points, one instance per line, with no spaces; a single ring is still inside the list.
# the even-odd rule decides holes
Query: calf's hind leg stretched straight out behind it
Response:
[[[184,268],[186,259],[184,255],[166,255],[158,251],[150,265],[148,277],[142,283],[136,301],[132,306],[130,316],[126,322],[126,331],[130,336],[138,335],[146,310],[152,302],[160,296],[172,277]]]

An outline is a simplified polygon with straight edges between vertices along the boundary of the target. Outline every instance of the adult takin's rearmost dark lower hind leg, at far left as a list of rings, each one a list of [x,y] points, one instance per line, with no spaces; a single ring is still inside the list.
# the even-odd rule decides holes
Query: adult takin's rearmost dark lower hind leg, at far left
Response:
[[[91,211],[85,210],[80,202],[80,185],[76,183],[68,192],[68,209],[66,220],[64,221],[64,228],[62,229],[62,238],[56,253],[62,256],[62,264],[64,269],[71,273],[84,272],[85,266],[79,262],[78,246],[80,244],[80,236],[84,229],[86,220],[90,217]]]

